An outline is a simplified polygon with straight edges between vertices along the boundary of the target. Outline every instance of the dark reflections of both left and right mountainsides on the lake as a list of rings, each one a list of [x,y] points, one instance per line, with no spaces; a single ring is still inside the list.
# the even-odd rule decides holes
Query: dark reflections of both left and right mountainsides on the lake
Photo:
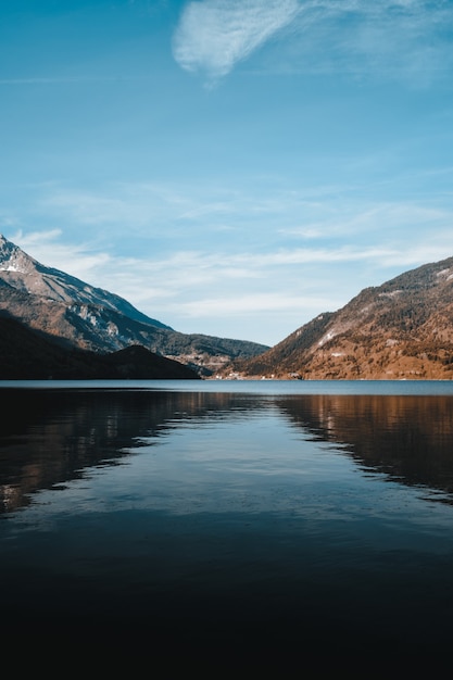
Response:
[[[178,421],[227,420],[270,406],[314,441],[341,446],[362,469],[453,491],[453,399],[446,396],[9,390],[3,404],[0,512],[85,468],[117,464],[144,445],[142,438],[148,445]]]

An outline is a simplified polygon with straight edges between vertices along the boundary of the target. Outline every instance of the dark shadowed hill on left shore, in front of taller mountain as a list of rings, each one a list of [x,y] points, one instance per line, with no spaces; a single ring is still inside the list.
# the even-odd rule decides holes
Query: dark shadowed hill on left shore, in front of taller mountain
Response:
[[[2,380],[148,379],[196,380],[199,375],[178,362],[141,345],[99,354],[66,349],[16,319],[0,316]]]

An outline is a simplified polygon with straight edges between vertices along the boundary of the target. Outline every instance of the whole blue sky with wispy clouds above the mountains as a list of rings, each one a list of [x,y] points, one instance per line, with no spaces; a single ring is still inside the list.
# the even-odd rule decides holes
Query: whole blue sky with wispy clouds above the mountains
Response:
[[[451,0],[7,0],[0,231],[275,344],[453,255]]]

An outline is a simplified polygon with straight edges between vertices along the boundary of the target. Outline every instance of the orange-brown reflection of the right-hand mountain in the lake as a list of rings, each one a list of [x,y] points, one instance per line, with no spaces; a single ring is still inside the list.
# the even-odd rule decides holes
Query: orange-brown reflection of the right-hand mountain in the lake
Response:
[[[316,441],[341,445],[362,469],[453,501],[453,399],[315,394],[276,403]]]

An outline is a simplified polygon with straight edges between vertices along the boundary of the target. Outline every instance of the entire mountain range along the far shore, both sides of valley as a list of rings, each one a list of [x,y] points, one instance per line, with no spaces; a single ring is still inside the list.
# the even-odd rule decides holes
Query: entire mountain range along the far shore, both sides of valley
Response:
[[[267,348],[178,332],[0,236],[0,379],[452,379],[453,257],[365,288]]]

